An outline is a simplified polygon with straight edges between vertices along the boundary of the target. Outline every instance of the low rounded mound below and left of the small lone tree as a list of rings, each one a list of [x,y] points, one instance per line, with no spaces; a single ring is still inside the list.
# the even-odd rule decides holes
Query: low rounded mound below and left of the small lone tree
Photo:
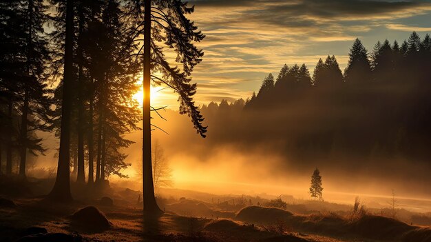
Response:
[[[280,208],[265,208],[249,206],[238,212],[235,220],[251,223],[274,223],[277,220],[285,220],[292,216],[291,212]]]

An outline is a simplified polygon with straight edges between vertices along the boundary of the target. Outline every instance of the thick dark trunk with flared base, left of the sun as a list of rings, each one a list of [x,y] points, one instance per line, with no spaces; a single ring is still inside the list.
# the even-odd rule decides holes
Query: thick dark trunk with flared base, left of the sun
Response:
[[[70,194],[70,111],[72,108],[71,84],[73,81],[73,19],[74,2],[73,0],[67,0],[59,165],[57,166],[57,176],[54,188],[52,188],[52,191],[49,194],[50,198],[56,201],[72,200],[72,194]]]

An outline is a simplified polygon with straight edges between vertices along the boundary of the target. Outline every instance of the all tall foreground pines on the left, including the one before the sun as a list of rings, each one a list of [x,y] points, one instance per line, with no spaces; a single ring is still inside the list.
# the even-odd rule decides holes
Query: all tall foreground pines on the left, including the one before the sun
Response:
[[[150,84],[173,89],[180,114],[202,137],[206,132],[191,83],[203,56],[194,42],[204,39],[186,17],[193,11],[180,0],[1,1],[0,169],[6,158],[6,171],[0,174],[12,174],[16,160],[25,178],[28,152],[45,152],[39,131],[55,132],[59,163],[48,197],[68,201],[71,168],[73,181],[90,186],[112,174],[126,177],[121,149],[133,141],[124,134],[143,130],[144,203],[149,212],[160,211],[150,136],[159,128],[150,112],[159,116],[160,108],[149,103]],[[132,97],[142,82],[143,112]]]

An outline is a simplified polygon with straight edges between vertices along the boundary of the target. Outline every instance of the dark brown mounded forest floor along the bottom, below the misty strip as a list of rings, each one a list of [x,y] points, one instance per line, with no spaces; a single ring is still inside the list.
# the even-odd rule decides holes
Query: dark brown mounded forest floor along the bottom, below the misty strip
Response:
[[[3,194],[0,241],[431,241],[431,228],[384,216],[352,219],[331,212],[294,214],[254,205],[226,212],[185,198],[160,203],[165,214],[145,219],[140,204],[127,202],[136,193],[126,189],[111,194],[112,205],[100,199],[53,203],[43,196]],[[85,215],[81,224],[73,220],[72,214],[88,206],[101,211],[110,222],[108,228],[92,228],[97,223],[92,214]],[[185,210],[190,215],[181,212]]]

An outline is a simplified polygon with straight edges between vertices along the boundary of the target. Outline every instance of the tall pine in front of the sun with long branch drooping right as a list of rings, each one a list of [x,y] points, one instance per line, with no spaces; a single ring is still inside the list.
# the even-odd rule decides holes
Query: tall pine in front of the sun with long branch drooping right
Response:
[[[196,64],[202,60],[203,52],[194,46],[194,42],[204,39],[204,34],[186,14],[194,11],[180,0],[131,0],[129,4],[131,13],[139,29],[144,23],[143,29],[143,190],[145,214],[160,214],[161,210],[154,198],[154,184],[151,176],[151,122],[150,112],[156,110],[150,104],[150,83],[167,85],[179,96],[180,114],[187,114],[194,128],[202,137],[205,137],[207,128],[202,125],[204,120],[198,107],[193,102],[196,93],[196,83],[192,84],[191,72]],[[134,41],[138,34],[133,34]],[[175,63],[181,67],[171,67],[163,52],[163,45],[176,52]],[[151,74],[160,72],[161,77]],[[154,111],[156,112],[156,111]]]

